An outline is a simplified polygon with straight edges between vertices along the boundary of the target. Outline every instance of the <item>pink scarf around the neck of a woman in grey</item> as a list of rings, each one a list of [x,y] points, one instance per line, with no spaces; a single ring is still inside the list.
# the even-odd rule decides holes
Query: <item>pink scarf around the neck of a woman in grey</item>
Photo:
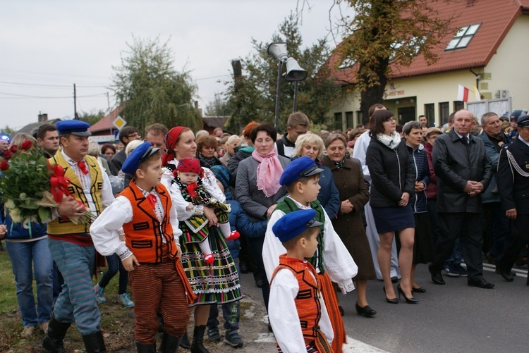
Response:
[[[258,154],[257,149],[252,152],[253,159],[259,162],[257,166],[257,190],[262,190],[266,197],[271,197],[281,189],[279,178],[283,173],[283,167],[277,158],[277,151],[274,149],[269,154]]]

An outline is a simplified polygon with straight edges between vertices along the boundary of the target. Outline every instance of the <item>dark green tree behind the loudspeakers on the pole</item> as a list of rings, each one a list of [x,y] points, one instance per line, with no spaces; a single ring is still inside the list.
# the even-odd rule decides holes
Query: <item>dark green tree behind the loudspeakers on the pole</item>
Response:
[[[303,111],[315,123],[323,123],[341,89],[329,79],[327,60],[330,49],[325,39],[310,47],[303,47],[298,18],[288,16],[279,33],[270,42],[286,42],[288,56],[298,61],[308,71],[305,80],[299,82],[298,110]],[[253,52],[245,59],[232,62],[233,79],[228,84],[225,97],[232,109],[226,128],[239,131],[252,120],[274,123],[277,85],[276,58],[267,53],[269,43],[252,40]],[[279,130],[284,132],[286,120],[293,110],[294,83],[283,80],[280,92]]]

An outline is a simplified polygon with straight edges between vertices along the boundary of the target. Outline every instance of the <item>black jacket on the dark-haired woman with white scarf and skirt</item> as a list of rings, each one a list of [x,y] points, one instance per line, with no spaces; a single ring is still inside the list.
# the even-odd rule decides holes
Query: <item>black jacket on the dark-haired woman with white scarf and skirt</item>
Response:
[[[404,192],[415,192],[415,171],[406,144],[391,149],[376,137],[365,154],[365,164],[371,175],[372,207],[398,207]]]

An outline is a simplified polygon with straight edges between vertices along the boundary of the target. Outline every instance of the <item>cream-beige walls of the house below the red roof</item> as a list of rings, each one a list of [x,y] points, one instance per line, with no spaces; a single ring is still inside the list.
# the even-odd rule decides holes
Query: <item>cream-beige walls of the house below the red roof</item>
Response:
[[[476,81],[475,75],[468,69],[389,80],[383,103],[387,109],[394,112],[397,123],[405,122],[404,118],[399,119],[399,109],[406,111],[406,108],[415,107],[415,118],[426,115],[429,125],[434,123],[440,126],[446,122],[446,120],[442,121],[443,104],[448,105],[449,113],[461,107],[462,103],[456,101],[458,85],[470,89],[469,102],[476,100],[473,85],[478,85],[483,99],[496,99],[498,90],[508,90],[509,96],[512,97],[513,109],[528,109],[529,70],[523,62],[529,57],[529,46],[525,45],[528,33],[529,16],[520,16],[487,66],[472,69],[474,73],[481,76],[479,81]],[[351,93],[349,99],[337,104],[333,111],[329,112],[329,121],[334,121],[335,114],[341,112],[343,130],[351,127],[345,121],[345,117],[348,111],[355,112],[356,117],[356,111],[360,109],[360,99],[355,96],[359,94]],[[428,116],[429,114],[425,111],[427,104],[433,104],[433,117]],[[354,125],[356,123],[355,120]]]

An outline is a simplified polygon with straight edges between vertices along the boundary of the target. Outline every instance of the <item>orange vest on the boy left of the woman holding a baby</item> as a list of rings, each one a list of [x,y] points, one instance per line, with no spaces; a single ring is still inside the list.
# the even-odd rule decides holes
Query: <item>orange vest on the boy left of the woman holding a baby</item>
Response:
[[[164,261],[162,237],[166,240],[169,259],[174,260],[177,252],[173,227],[169,222],[169,210],[173,206],[171,197],[162,184],[157,185],[156,191],[164,208],[165,216],[161,223],[134,180],[120,194],[130,201],[133,209],[132,221],[123,224],[123,231],[126,234],[125,244],[138,261],[144,264],[159,264]]]

